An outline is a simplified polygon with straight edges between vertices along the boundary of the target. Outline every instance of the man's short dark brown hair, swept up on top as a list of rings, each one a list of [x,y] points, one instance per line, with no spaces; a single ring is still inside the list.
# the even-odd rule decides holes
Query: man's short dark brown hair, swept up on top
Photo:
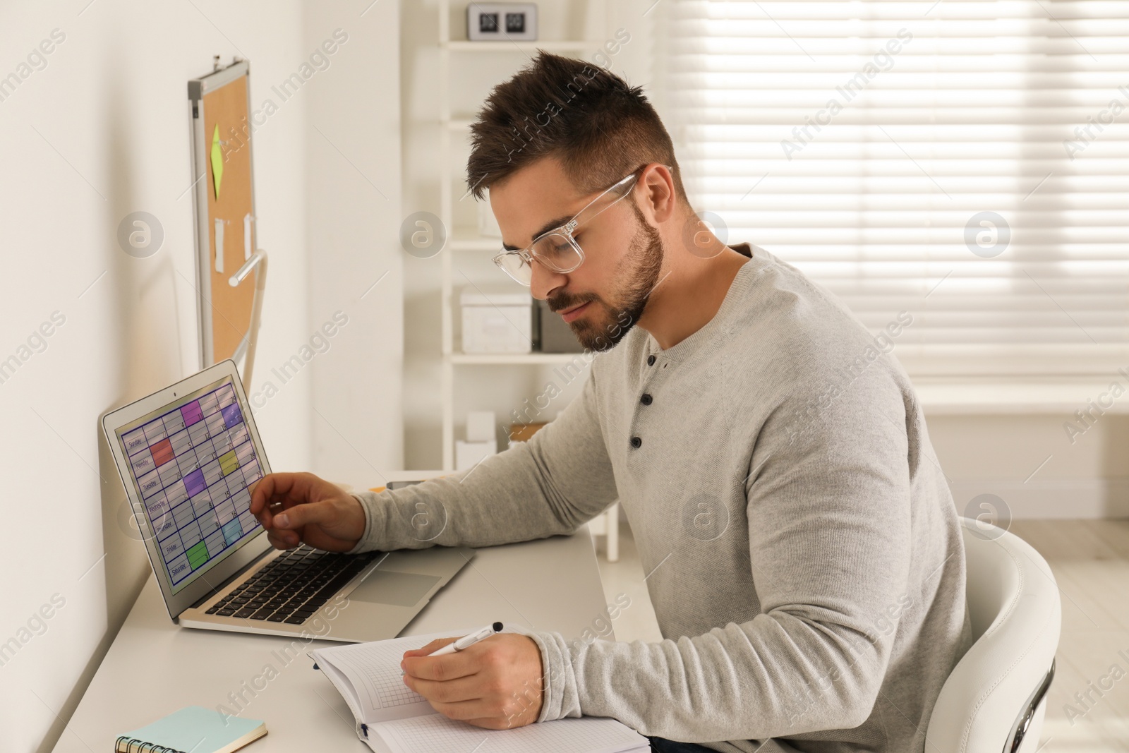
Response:
[[[560,160],[581,193],[603,191],[649,163],[671,167],[689,205],[671,135],[642,94],[619,76],[543,50],[490,93],[471,125],[466,183],[475,199],[539,159]]]

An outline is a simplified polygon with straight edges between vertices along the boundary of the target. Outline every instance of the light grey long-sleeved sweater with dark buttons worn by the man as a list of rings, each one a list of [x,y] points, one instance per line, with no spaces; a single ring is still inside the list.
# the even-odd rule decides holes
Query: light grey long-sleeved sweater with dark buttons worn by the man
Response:
[[[358,494],[353,551],[567,534],[618,499],[664,640],[534,632],[539,721],[730,753],[922,751],[970,629],[956,509],[890,353],[912,314],[873,338],[796,268],[734,248],[751,259],[702,329],[578,354],[581,394],[528,443]]]

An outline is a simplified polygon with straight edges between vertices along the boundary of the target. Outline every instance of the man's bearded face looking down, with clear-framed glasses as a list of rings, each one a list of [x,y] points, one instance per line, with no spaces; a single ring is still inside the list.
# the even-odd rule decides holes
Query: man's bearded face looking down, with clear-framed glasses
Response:
[[[560,163],[544,158],[491,186],[490,204],[506,246],[525,248],[598,193],[579,193]],[[639,322],[663,262],[662,238],[644,220],[636,195],[604,209],[613,198],[607,194],[589,208],[572,233],[584,249],[584,263],[561,274],[534,262],[530,284],[533,297],[546,300],[590,350],[611,348]]]

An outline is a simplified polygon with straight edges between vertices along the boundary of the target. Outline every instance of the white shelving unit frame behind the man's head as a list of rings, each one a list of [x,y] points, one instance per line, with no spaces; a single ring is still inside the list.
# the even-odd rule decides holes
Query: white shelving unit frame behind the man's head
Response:
[[[590,5],[590,3],[589,3]],[[443,467],[453,471],[455,467],[455,368],[473,368],[479,366],[551,366],[568,364],[575,359],[584,359],[584,353],[460,353],[454,349],[454,284],[452,280],[453,255],[460,252],[490,252],[498,249],[501,243],[498,238],[478,236],[476,230],[456,228],[454,222],[453,190],[455,186],[455,169],[452,165],[452,138],[465,134],[471,125],[470,120],[452,117],[450,107],[450,61],[452,55],[496,54],[516,55],[517,67],[528,60],[536,50],[557,53],[585,53],[597,50],[607,38],[607,5],[603,3],[604,17],[599,29],[604,36],[598,40],[545,40],[541,42],[470,42],[450,38],[450,2],[439,0],[439,219],[443,226],[452,228],[447,243],[440,254],[441,275],[441,347],[443,361],[440,368],[440,389],[443,393]],[[544,28],[542,27],[542,32]],[[458,170],[462,175],[462,170]],[[603,515],[588,524],[594,535],[606,537],[607,559],[614,562],[619,559],[619,505],[612,505]]]

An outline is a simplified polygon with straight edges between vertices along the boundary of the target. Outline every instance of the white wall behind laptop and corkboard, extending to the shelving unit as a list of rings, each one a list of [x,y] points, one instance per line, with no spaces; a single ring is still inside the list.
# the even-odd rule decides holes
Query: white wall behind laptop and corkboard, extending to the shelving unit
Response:
[[[334,28],[350,34],[254,134],[257,233],[271,255],[255,385],[332,312],[350,316],[256,420],[275,470],[367,481],[369,464],[401,462],[397,6],[361,17],[367,5],[0,7],[0,77],[28,73],[0,100],[0,359],[21,359],[0,384],[0,645],[16,639],[0,654],[5,752],[51,750],[149,577],[96,422],[196,369],[186,81],[212,54],[252,61],[260,104]],[[18,68],[53,29],[65,38],[45,67]],[[365,194],[312,125],[387,200]],[[120,220],[139,210],[165,234],[148,259],[116,242]],[[385,270],[379,296],[358,305],[357,283]],[[33,340],[40,352],[20,350],[54,312],[64,323],[45,345]],[[342,400],[361,410],[345,414]],[[315,408],[368,462],[344,454]]]

